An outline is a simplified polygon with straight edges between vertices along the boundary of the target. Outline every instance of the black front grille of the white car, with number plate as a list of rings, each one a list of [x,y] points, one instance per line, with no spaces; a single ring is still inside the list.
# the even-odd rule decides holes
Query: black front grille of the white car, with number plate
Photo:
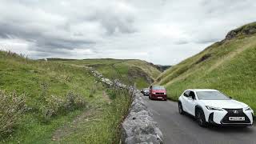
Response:
[[[250,119],[243,112],[242,109],[224,109],[227,114],[222,118],[222,123],[232,124],[232,123],[250,123]],[[245,117],[245,121],[230,121],[229,117]]]

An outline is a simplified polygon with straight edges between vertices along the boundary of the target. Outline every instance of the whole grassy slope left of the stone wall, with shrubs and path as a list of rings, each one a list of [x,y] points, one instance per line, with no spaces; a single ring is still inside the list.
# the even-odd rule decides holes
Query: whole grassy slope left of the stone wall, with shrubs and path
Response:
[[[0,143],[118,143],[130,105],[126,91],[106,89],[82,66],[5,51],[0,99]]]

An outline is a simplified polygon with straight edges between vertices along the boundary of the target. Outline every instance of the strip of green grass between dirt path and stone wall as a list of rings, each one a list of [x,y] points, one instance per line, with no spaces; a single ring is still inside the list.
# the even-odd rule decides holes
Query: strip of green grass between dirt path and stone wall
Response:
[[[113,93],[112,93],[113,94]],[[126,107],[130,106],[129,94],[119,92],[113,102],[105,104],[104,109],[94,111],[90,117],[93,120],[79,124],[78,132],[69,134],[61,143],[118,143],[120,135],[119,124]],[[98,114],[97,114],[98,113]],[[114,141],[113,141],[114,140]]]

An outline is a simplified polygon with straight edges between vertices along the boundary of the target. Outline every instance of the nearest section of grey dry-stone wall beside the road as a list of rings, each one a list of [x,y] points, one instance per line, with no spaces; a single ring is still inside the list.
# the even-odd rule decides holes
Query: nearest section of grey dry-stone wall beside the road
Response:
[[[148,110],[142,101],[142,94],[139,90],[134,90],[133,102],[130,113],[122,122],[122,144],[133,143],[163,143],[162,131],[154,121],[153,114]]]

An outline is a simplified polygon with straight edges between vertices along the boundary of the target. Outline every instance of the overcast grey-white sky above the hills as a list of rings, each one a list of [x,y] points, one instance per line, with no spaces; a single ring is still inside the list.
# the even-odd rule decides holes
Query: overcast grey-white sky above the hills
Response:
[[[0,0],[0,49],[174,65],[255,20],[255,0]]]

